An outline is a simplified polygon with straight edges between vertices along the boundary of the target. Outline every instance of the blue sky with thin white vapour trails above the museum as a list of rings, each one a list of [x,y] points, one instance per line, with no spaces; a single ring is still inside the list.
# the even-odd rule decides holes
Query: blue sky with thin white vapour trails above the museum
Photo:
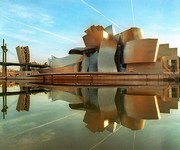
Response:
[[[28,45],[31,62],[44,63],[83,47],[89,26],[113,24],[117,32],[140,27],[145,38],[180,50],[179,18],[179,0],[0,0],[0,45],[5,39],[9,62],[18,62],[16,46]]]

